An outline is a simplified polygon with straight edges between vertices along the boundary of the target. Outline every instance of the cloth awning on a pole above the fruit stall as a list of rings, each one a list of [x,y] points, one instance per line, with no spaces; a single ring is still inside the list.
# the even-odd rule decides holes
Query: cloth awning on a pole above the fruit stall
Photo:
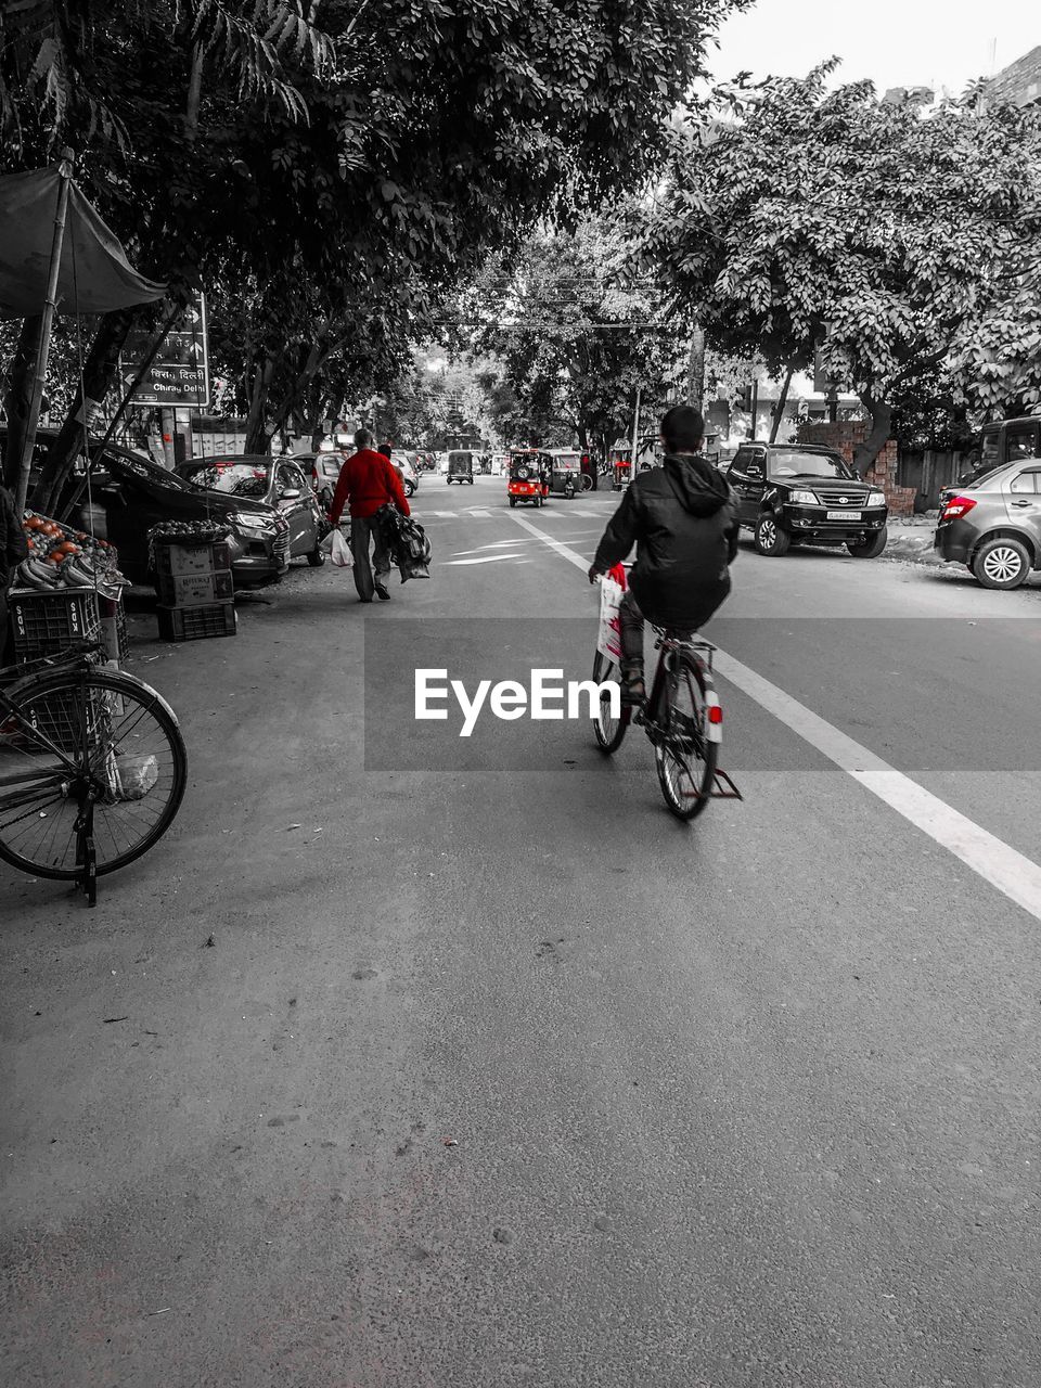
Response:
[[[0,318],[31,318],[43,312],[58,183],[57,165],[0,178]],[[57,312],[107,314],[114,308],[153,303],[165,291],[165,285],[137,273],[74,182]]]

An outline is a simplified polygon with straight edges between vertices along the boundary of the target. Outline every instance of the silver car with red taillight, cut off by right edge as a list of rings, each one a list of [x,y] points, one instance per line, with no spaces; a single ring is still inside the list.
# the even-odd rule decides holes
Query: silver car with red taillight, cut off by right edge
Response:
[[[934,544],[985,589],[1026,583],[1031,569],[1041,569],[1041,458],[1008,462],[948,497]]]

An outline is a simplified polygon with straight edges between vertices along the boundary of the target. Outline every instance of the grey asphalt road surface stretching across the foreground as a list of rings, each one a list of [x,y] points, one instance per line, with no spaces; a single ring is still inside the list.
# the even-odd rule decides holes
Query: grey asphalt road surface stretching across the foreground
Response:
[[[97,911],[0,866],[6,1381],[1035,1388],[1037,579],[745,550],[684,827],[636,731],[412,720],[589,673],[616,498],[416,500],[389,604],[135,623],[190,788]]]

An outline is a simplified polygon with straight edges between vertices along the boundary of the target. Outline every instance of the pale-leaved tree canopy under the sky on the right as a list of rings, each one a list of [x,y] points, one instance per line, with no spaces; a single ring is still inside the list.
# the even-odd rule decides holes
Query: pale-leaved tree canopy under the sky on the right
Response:
[[[947,103],[920,115],[870,83],[718,87],[675,129],[645,246],[709,339],[770,371],[827,359],[870,416],[863,471],[894,409],[929,396],[1016,275],[1041,203],[1041,118]],[[933,391],[936,396],[937,391]],[[942,391],[940,391],[942,396]]]

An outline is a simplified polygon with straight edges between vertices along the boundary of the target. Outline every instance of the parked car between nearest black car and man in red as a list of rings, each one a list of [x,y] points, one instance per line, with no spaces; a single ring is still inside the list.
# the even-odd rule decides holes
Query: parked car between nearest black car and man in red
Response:
[[[175,471],[194,491],[218,491],[266,502],[289,522],[289,558],[303,555],[315,569],[325,564],[321,547],[329,529],[325,514],[293,458],[271,458],[266,454],[193,458]]]

